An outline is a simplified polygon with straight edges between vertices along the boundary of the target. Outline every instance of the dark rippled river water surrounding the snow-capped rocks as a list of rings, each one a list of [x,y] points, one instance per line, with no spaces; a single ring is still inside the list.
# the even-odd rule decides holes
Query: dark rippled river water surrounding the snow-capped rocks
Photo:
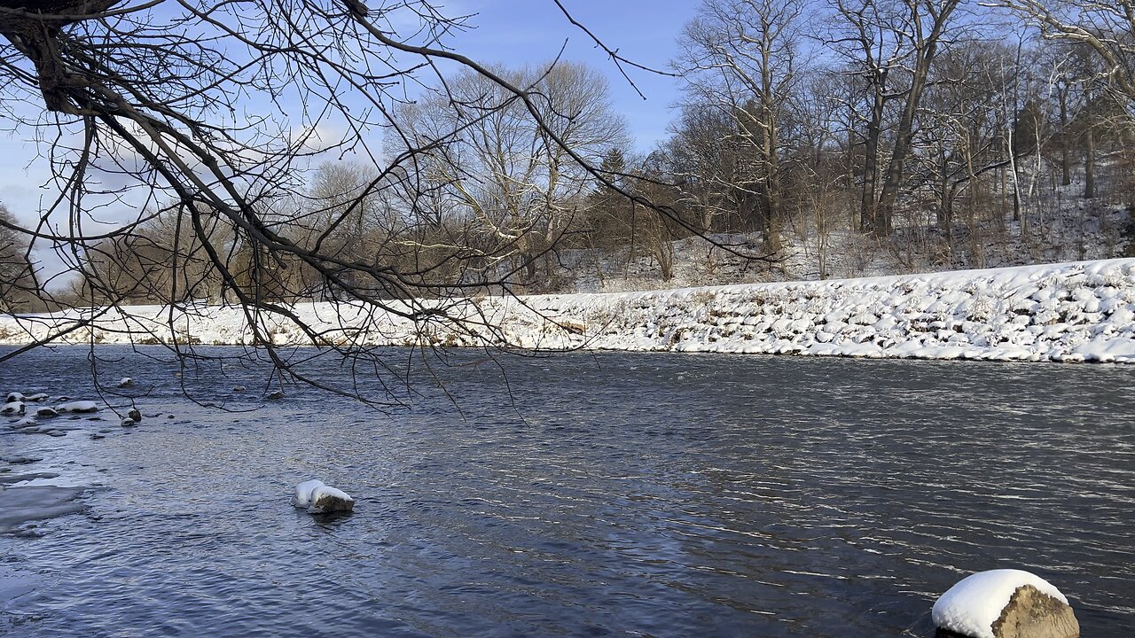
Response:
[[[0,436],[93,487],[0,537],[0,633],[928,637],[935,597],[994,568],[1059,587],[1085,638],[1135,627],[1135,368],[605,353],[505,380],[460,354],[435,368],[453,402],[227,413],[99,352],[146,418]],[[86,356],[2,363],[0,391],[95,398]],[[228,373],[183,380],[255,405],[263,377]],[[355,513],[294,510],[309,478]]]

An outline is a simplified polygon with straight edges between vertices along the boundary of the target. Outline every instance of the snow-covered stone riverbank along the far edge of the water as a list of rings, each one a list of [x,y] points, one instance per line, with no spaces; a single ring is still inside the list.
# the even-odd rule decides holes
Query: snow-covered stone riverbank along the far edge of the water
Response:
[[[73,333],[78,343],[251,344],[239,309],[187,314],[133,307]],[[304,303],[328,342],[527,349],[1135,363],[1135,259],[931,275],[748,284],[617,294],[482,297],[453,304],[460,329],[394,313]],[[0,342],[27,343],[68,316],[0,318]],[[276,343],[306,341],[269,325]]]

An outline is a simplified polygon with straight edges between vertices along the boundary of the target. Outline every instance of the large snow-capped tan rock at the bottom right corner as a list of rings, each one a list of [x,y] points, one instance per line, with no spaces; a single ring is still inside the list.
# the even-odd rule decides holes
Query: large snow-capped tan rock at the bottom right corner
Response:
[[[962,579],[934,603],[931,618],[940,638],[1079,638],[1065,595],[1023,570]]]

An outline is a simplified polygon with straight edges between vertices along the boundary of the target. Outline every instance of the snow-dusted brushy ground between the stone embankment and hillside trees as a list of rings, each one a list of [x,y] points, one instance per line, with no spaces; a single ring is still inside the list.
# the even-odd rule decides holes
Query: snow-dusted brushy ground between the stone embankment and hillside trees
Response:
[[[747,260],[714,245],[762,254],[760,233],[712,234],[669,244],[672,278],[664,280],[649,245],[633,251],[563,250],[561,268],[547,292],[628,292],[705,285],[881,277],[968,268],[1008,268],[1063,261],[1135,257],[1130,212],[1118,204],[1085,201],[1068,186],[1037,198],[1020,221],[958,223],[952,238],[932,218],[896,228],[888,240],[852,229],[846,219],[829,220],[821,233],[816,219],[793,219],[781,234],[773,261]],[[1006,205],[1009,205],[1008,203]],[[926,210],[933,207],[927,204]],[[552,286],[550,288],[548,286]]]

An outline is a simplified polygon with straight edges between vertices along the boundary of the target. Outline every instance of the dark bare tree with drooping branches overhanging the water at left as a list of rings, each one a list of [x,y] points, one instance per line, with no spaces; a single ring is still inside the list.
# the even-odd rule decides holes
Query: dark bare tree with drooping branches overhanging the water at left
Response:
[[[39,223],[5,227],[36,244],[59,246],[72,268],[98,276],[92,270],[101,243],[138,233],[160,202],[173,200],[176,228],[195,237],[201,259],[243,309],[258,343],[271,343],[270,319],[291,322],[313,343],[323,343],[318,327],[281,303],[286,297],[277,292],[287,291],[275,289],[292,285],[291,272],[297,268],[371,313],[372,322],[385,312],[426,328],[469,322],[452,304],[415,300],[491,284],[507,288],[514,270],[480,268],[482,251],[453,251],[447,263],[464,261],[470,265],[466,275],[479,279],[442,286],[432,277],[436,265],[404,270],[414,261],[385,263],[334,250],[327,242],[309,245],[302,226],[276,212],[277,203],[305,194],[311,163],[348,152],[377,167],[358,198],[388,190],[429,194],[419,162],[442,141],[415,138],[400,109],[423,86],[445,94],[443,66],[466,69],[504,98],[479,116],[523,111],[539,131],[546,158],[619,190],[595,169],[587,151],[575,150],[573,123],[580,111],[557,110],[556,101],[544,95],[547,83],[518,83],[452,50],[452,36],[466,26],[465,19],[445,16],[429,0],[376,0],[369,8],[356,0],[0,0],[0,125],[47,141],[42,154],[52,162],[51,186],[58,193],[40,211]],[[614,64],[625,64],[608,52]],[[548,82],[555,73],[546,74]],[[445,103],[461,117],[473,109],[460,99]],[[384,153],[382,137],[403,141],[402,149]],[[560,207],[566,181],[548,177],[557,185],[545,194]],[[623,195],[651,213],[673,215],[640,195]],[[571,210],[557,208],[549,215],[562,219]],[[350,220],[350,215],[343,217],[342,224]],[[221,244],[213,241],[213,225],[224,227]],[[560,221],[521,226],[513,245],[533,254],[543,250],[535,246],[538,235],[546,243],[562,228]],[[520,247],[524,242],[532,245]],[[177,250],[184,245],[175,244]],[[121,253],[104,251],[102,257],[121,259]],[[150,283],[140,278],[137,285]],[[106,292],[106,299],[91,301],[120,305],[131,297],[110,286]],[[89,321],[76,321],[49,339]],[[180,344],[171,347],[190,354]],[[384,366],[354,343],[329,345],[328,352]],[[319,383],[274,349],[264,353],[277,370]]]

